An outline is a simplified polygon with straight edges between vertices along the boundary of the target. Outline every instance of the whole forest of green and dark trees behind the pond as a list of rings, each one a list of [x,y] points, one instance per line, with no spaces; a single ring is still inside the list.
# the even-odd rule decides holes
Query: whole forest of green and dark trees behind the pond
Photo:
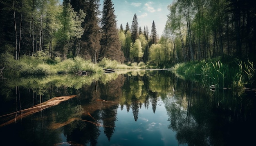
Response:
[[[251,0],[173,0],[163,34],[155,22],[139,26],[136,13],[117,26],[112,0],[0,0],[0,67],[45,56],[97,63],[144,62],[159,68],[218,56],[255,61],[256,7]],[[2,71],[2,70],[1,70]]]

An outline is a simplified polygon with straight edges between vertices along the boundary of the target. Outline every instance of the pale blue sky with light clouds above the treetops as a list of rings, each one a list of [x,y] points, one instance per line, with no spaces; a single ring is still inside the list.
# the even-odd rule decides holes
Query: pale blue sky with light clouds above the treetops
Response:
[[[149,33],[151,33],[154,21],[157,34],[160,37],[164,31],[167,15],[169,14],[167,6],[172,3],[172,0],[112,0],[112,2],[115,15],[117,15],[118,28],[122,24],[125,29],[127,22],[131,27],[133,16],[136,13],[138,24],[142,31],[144,26],[148,26]],[[102,9],[103,0],[100,0],[100,3],[100,9]]]

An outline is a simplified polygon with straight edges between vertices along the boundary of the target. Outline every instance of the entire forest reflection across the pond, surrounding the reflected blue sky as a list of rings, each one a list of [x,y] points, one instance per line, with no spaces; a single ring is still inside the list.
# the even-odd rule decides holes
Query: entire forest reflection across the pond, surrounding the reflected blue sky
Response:
[[[109,78],[112,80],[108,80]],[[79,79],[83,84],[79,83]],[[211,92],[207,88],[202,88],[199,83],[177,79],[167,71],[145,71],[144,74],[132,72],[125,75],[111,75],[111,77],[106,75],[103,81],[91,80],[90,84],[87,84],[86,79],[78,77],[75,77],[76,81],[73,83],[67,78],[66,80],[69,81],[67,84],[66,81],[56,81],[63,80],[61,77],[56,77],[56,80],[51,82],[45,81],[47,83],[44,84],[39,84],[43,82],[41,79],[26,80],[28,83],[22,83],[24,86],[17,85],[21,83],[16,84],[19,87],[17,89],[20,98],[16,98],[19,97],[16,96],[16,86],[7,88],[0,85],[1,91],[7,91],[1,93],[1,113],[16,111],[16,107],[31,107],[60,95],[78,95],[77,98],[61,105],[22,119],[22,127],[26,130],[18,128],[17,124],[13,128],[3,128],[4,131],[17,129],[26,135],[36,133],[32,137],[34,144],[53,145],[60,142],[62,140],[60,135],[64,134],[66,138],[64,140],[67,142],[95,146],[98,144],[99,135],[103,132],[108,141],[111,141],[119,106],[121,110],[132,112],[137,122],[139,110],[152,107],[153,114],[158,110],[159,100],[164,102],[170,122],[168,128],[177,133],[179,144],[247,145],[254,139],[254,135],[249,132],[256,130],[254,124],[256,115],[253,111],[256,107],[256,102],[253,100],[255,93],[249,95],[251,93],[245,92],[246,97],[242,95],[238,97],[233,91]],[[33,86],[32,82],[35,82]],[[11,106],[13,103],[16,103],[15,106]],[[104,131],[100,131],[100,127],[103,127]],[[2,129],[0,131],[1,134],[5,134]],[[7,134],[8,136],[3,138],[11,137],[12,133]],[[33,143],[29,141],[32,139],[31,136],[26,135],[16,133],[15,137],[18,137],[22,144]],[[42,137],[49,141],[43,142],[40,139]],[[11,141],[10,138],[9,140]]]

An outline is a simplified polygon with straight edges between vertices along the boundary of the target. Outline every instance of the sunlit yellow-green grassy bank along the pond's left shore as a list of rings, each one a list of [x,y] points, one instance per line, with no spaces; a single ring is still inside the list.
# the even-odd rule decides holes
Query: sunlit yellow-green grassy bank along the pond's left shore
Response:
[[[91,60],[84,60],[80,57],[61,60],[61,58],[49,58],[43,52],[36,53],[34,56],[22,56],[15,60],[9,53],[0,55],[0,67],[3,76],[27,76],[27,75],[55,75],[55,74],[79,74],[81,71],[89,73],[103,74],[106,69],[154,69],[154,66],[140,63],[121,64],[116,60],[103,58],[97,64]]]

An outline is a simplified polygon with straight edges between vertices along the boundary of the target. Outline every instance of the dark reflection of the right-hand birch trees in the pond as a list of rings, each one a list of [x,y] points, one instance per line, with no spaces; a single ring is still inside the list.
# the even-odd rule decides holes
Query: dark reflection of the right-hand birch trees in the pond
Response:
[[[175,95],[165,105],[170,121],[168,128],[177,132],[179,144],[221,146],[252,142],[248,133],[255,130],[255,124],[249,124],[254,121],[250,117],[256,117],[249,102],[252,98],[234,96],[232,91],[213,93],[193,82],[176,85]]]

